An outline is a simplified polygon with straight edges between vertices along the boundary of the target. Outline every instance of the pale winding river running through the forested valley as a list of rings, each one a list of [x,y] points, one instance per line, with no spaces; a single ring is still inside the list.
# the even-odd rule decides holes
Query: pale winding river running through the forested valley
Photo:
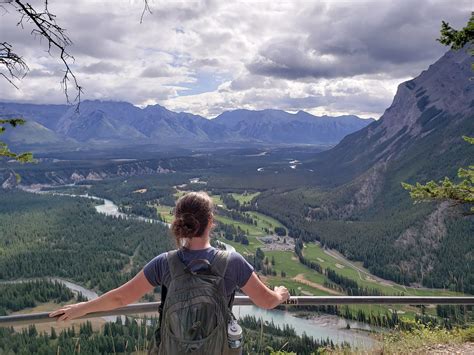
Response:
[[[146,223],[161,223],[169,227],[168,223],[159,221],[157,219],[150,219],[144,217],[138,217],[134,215],[128,215],[123,212],[120,212],[119,207],[114,204],[112,201],[92,196],[92,195],[74,195],[66,193],[58,193],[51,191],[41,191],[37,189],[26,189],[23,190],[33,193],[51,193],[60,196],[70,196],[70,197],[82,197],[89,198],[93,200],[102,200],[102,205],[95,206],[95,209],[98,213],[120,217],[120,218],[131,218]],[[221,242],[222,243],[222,242]],[[235,248],[229,244],[222,243],[226,246],[226,249],[229,251],[235,251]],[[63,280],[60,278],[51,278],[58,282],[63,283],[69,289],[75,292],[81,292],[88,299],[97,298],[98,295],[92,290],[88,290],[78,284],[75,284],[71,281]],[[284,325],[290,325],[295,328],[296,333],[302,335],[305,332],[307,335],[314,337],[315,339],[330,339],[335,344],[341,344],[343,342],[349,343],[352,347],[368,349],[375,344],[375,340],[370,337],[366,331],[370,331],[371,327],[365,323],[348,321],[343,318],[331,315],[321,315],[314,316],[311,319],[299,318],[294,316],[290,312],[280,311],[280,310],[264,310],[255,306],[234,306],[234,314],[236,317],[240,318],[245,315],[253,315],[257,318],[261,318],[264,321],[272,322],[275,325],[280,327]],[[116,317],[104,317],[107,321],[114,321]],[[346,325],[349,323],[351,329],[346,329]],[[360,331],[362,330],[362,331]]]

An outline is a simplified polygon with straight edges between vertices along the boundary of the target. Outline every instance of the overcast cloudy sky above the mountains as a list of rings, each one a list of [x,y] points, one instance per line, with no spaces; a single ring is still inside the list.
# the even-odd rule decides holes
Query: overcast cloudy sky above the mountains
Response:
[[[378,118],[402,81],[447,50],[441,20],[463,27],[472,0],[50,0],[73,46],[83,99],[160,104],[214,117],[237,108]],[[41,8],[42,1],[30,1]],[[74,5],[71,5],[74,4]],[[0,9],[0,41],[30,72],[0,100],[65,103],[63,67]],[[0,68],[1,69],[1,68]]]

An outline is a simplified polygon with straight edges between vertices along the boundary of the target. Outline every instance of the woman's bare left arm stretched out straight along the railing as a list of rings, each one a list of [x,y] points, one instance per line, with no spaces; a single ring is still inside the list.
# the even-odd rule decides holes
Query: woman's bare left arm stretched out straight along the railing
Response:
[[[95,300],[81,302],[77,304],[66,305],[49,314],[50,317],[58,317],[58,321],[66,321],[82,317],[88,313],[109,311],[111,309],[126,306],[127,304],[138,301],[144,294],[153,290],[143,270],[141,270],[133,279],[104,293]]]

